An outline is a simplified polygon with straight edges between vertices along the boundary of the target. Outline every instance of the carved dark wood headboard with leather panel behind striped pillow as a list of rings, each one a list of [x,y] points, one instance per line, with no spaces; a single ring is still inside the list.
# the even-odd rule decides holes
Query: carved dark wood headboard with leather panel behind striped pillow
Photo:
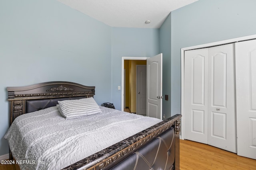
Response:
[[[58,81],[31,86],[7,87],[7,91],[11,125],[19,115],[56,106],[58,100],[93,97],[95,86]]]

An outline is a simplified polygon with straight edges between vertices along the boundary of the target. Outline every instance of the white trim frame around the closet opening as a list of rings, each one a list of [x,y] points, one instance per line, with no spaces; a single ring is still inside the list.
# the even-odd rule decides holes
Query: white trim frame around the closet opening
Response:
[[[256,34],[248,35],[248,36],[244,36],[244,37],[233,38],[233,39],[227,39],[227,40],[223,40],[223,41],[216,41],[216,42],[212,42],[212,43],[206,43],[206,44],[202,44],[202,45],[195,45],[195,46],[191,46],[191,47],[184,47],[184,48],[180,49],[180,54],[181,54],[181,115],[182,115],[180,139],[184,140],[184,119],[186,118],[184,116],[184,51],[214,47],[217,45],[236,43],[236,42],[246,41],[246,40],[251,40],[251,39],[256,39]]]

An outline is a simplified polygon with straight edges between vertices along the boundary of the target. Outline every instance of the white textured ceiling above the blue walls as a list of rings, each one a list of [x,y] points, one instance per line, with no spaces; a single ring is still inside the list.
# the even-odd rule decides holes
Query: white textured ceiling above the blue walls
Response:
[[[197,0],[58,0],[111,27],[159,28],[171,11]],[[150,24],[145,24],[150,20]]]

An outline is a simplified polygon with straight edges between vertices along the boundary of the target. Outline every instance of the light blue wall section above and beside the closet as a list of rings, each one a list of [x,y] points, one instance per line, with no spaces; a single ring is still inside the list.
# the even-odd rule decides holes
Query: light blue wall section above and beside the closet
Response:
[[[256,34],[255,0],[199,0],[171,13],[171,113],[180,113],[180,49]]]

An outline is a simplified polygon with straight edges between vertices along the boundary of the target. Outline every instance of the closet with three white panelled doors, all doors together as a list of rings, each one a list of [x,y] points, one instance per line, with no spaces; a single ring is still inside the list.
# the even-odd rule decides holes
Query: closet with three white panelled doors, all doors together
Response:
[[[184,139],[256,159],[256,40],[184,51]]]

